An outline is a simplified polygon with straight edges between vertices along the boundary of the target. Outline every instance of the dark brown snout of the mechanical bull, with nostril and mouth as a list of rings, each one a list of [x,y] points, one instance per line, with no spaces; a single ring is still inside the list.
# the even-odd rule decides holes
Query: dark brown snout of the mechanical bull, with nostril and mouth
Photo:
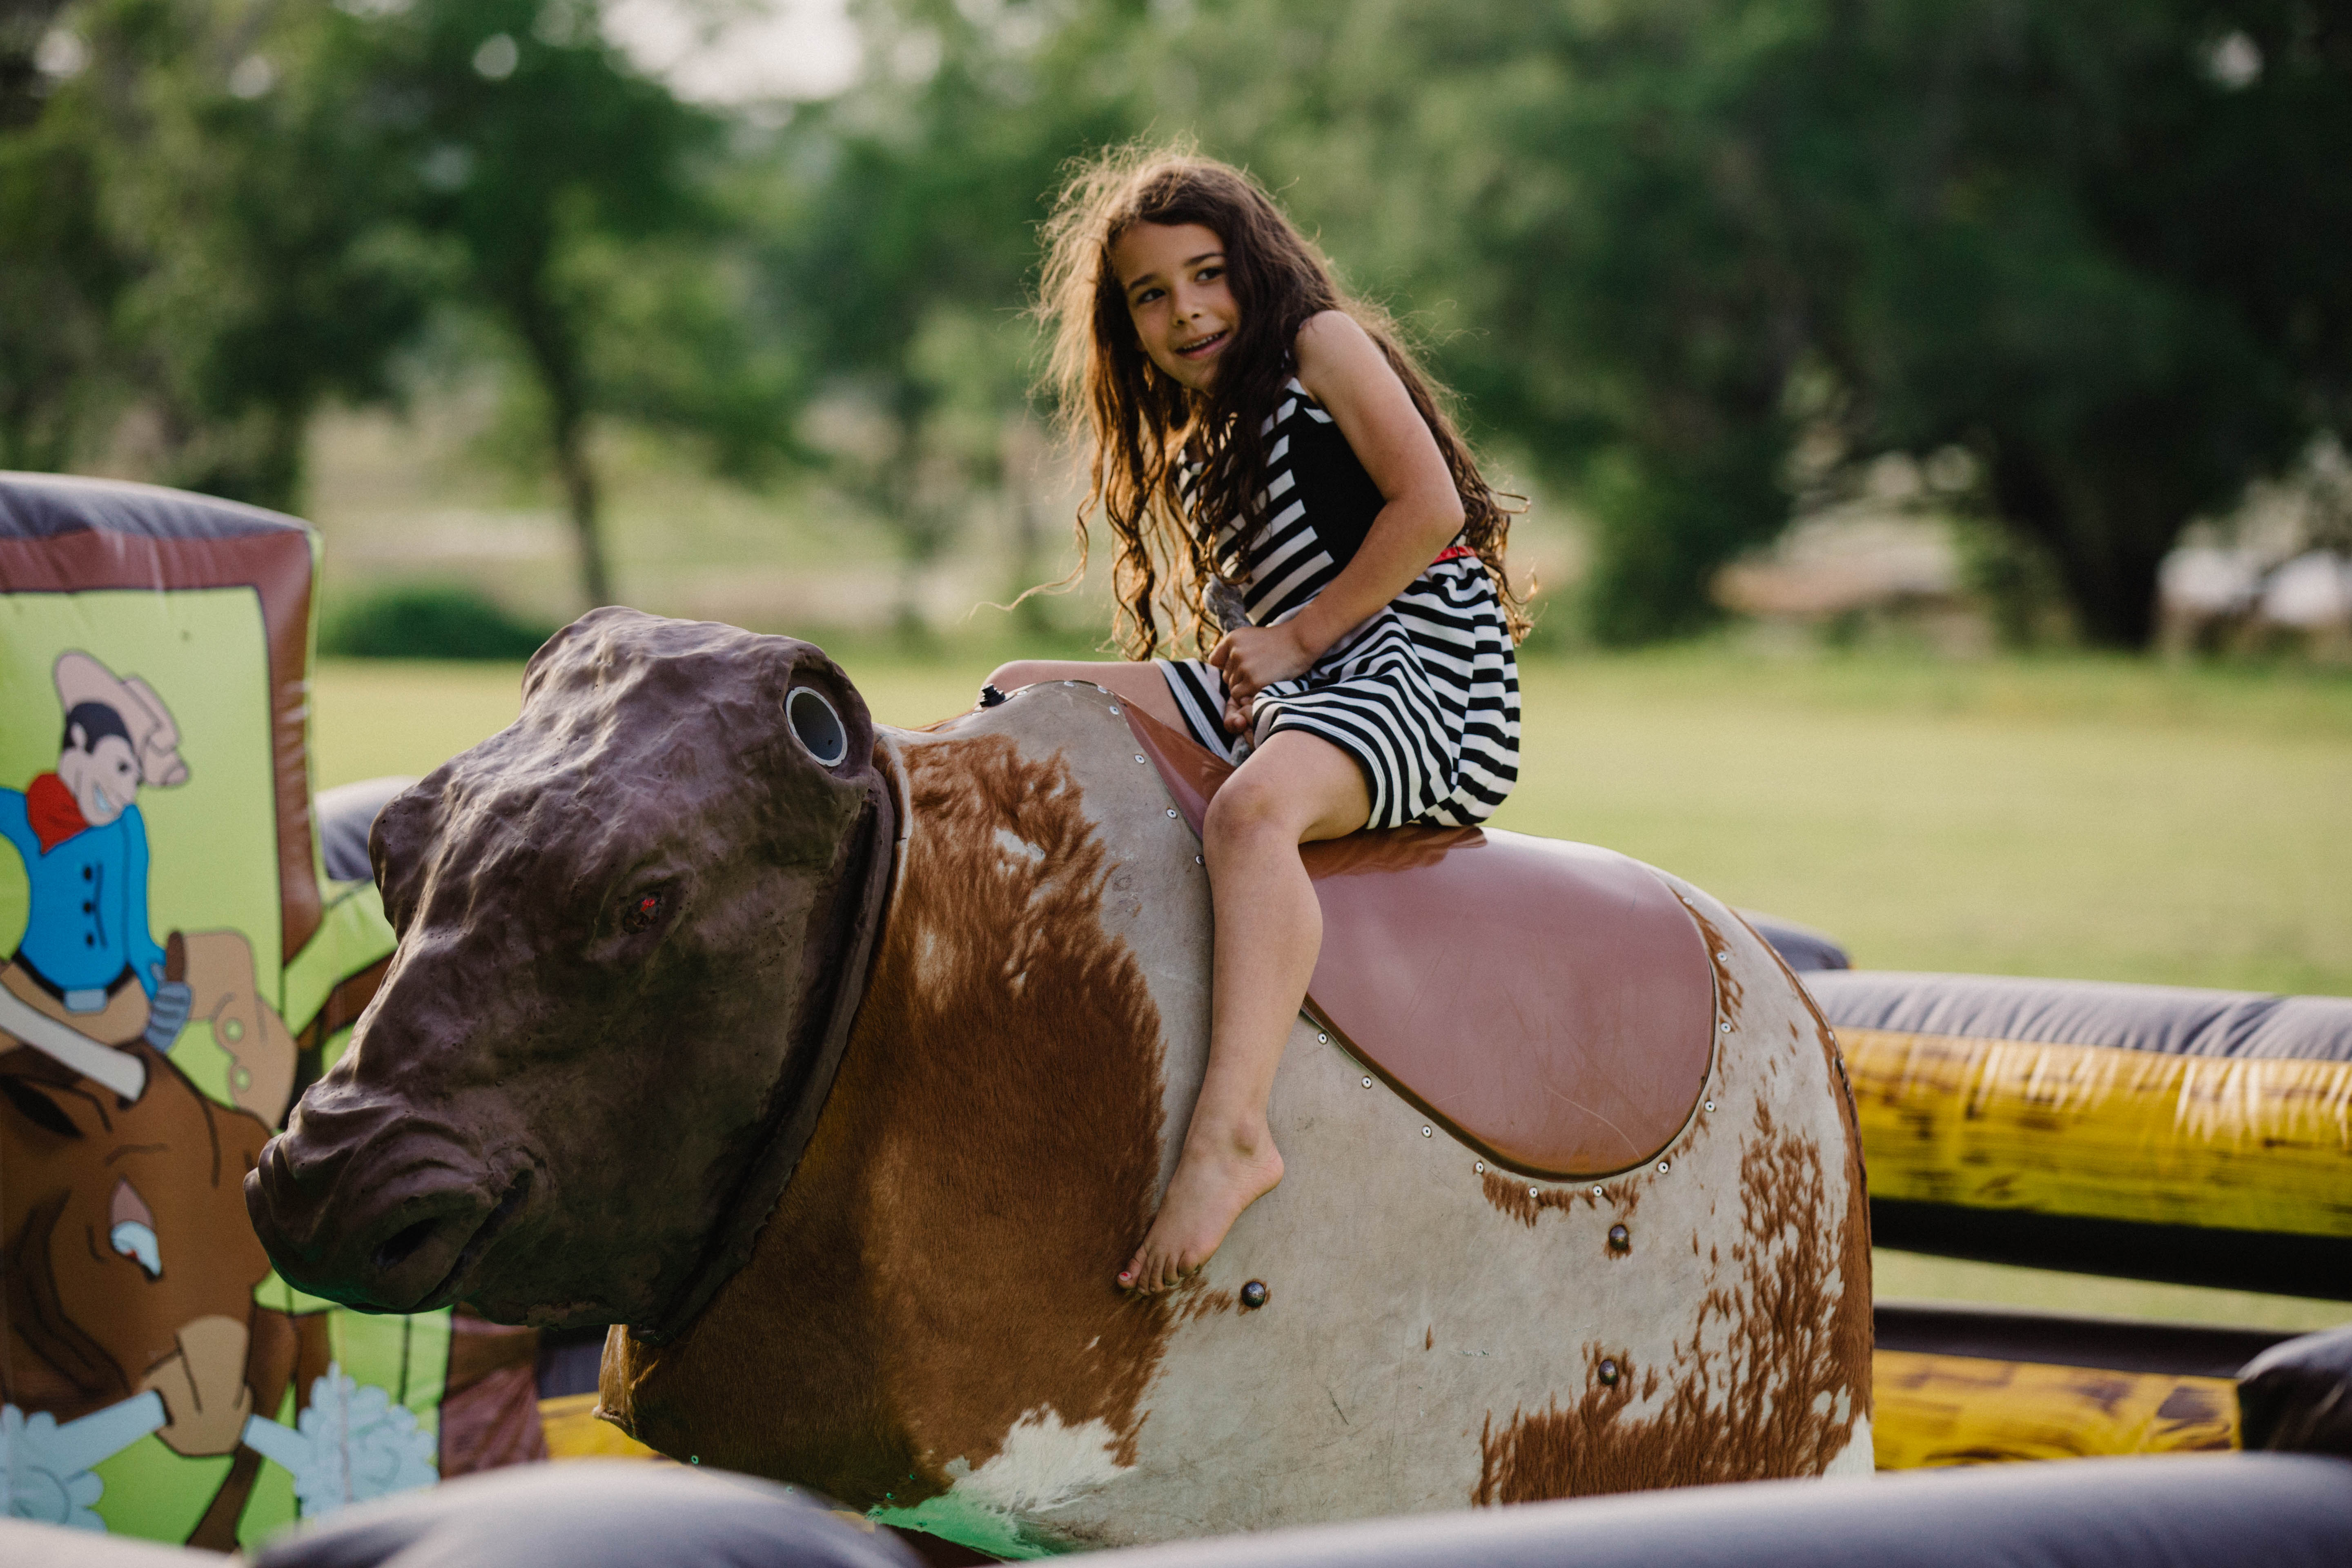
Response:
[[[501,1178],[442,1131],[303,1112],[261,1150],[245,1206],[278,1272],[313,1295],[369,1312],[442,1307],[529,1197],[527,1168]]]

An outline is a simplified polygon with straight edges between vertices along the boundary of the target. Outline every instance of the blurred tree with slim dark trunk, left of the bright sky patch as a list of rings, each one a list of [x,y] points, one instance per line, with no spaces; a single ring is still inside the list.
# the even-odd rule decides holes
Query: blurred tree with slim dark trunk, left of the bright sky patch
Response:
[[[369,71],[405,103],[416,219],[456,247],[459,294],[513,334],[581,592],[609,604],[595,414],[699,430],[736,470],[781,442],[788,357],[741,320],[757,301],[706,249],[722,233],[708,167],[722,127],[637,75],[593,0],[372,9]]]

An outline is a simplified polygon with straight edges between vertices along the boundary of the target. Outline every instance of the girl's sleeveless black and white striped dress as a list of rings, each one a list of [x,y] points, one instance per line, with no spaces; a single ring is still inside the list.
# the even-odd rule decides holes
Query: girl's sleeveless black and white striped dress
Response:
[[[1216,543],[1249,618],[1275,625],[1355,557],[1383,498],[1298,381],[1265,435],[1268,522],[1247,557],[1232,550],[1232,522]],[[1185,501],[1197,477],[1188,470]],[[1230,762],[1225,679],[1200,658],[1162,658],[1160,670],[1192,738]],[[1305,675],[1265,686],[1251,717],[1256,745],[1298,729],[1355,757],[1371,790],[1367,827],[1484,820],[1519,778],[1519,663],[1486,569],[1470,555],[1437,562]]]

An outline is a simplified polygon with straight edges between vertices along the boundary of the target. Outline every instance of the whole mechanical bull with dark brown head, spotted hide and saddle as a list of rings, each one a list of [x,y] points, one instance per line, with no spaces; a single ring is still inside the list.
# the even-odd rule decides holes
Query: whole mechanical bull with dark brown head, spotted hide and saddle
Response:
[[[619,1324],[602,1410],[1000,1552],[1870,1467],[1830,1030],[1606,851],[1310,851],[1289,1173],[1112,1276],[1209,1039],[1218,764],[1094,686],[875,731],[814,646],[597,611],[379,818],[400,952],[247,1182],[353,1307]]]

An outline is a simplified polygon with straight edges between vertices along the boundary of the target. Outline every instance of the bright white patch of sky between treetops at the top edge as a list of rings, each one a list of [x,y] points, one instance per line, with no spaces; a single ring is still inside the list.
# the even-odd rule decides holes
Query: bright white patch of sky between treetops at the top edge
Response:
[[[849,0],[604,0],[604,35],[696,103],[826,99],[858,71]]]

